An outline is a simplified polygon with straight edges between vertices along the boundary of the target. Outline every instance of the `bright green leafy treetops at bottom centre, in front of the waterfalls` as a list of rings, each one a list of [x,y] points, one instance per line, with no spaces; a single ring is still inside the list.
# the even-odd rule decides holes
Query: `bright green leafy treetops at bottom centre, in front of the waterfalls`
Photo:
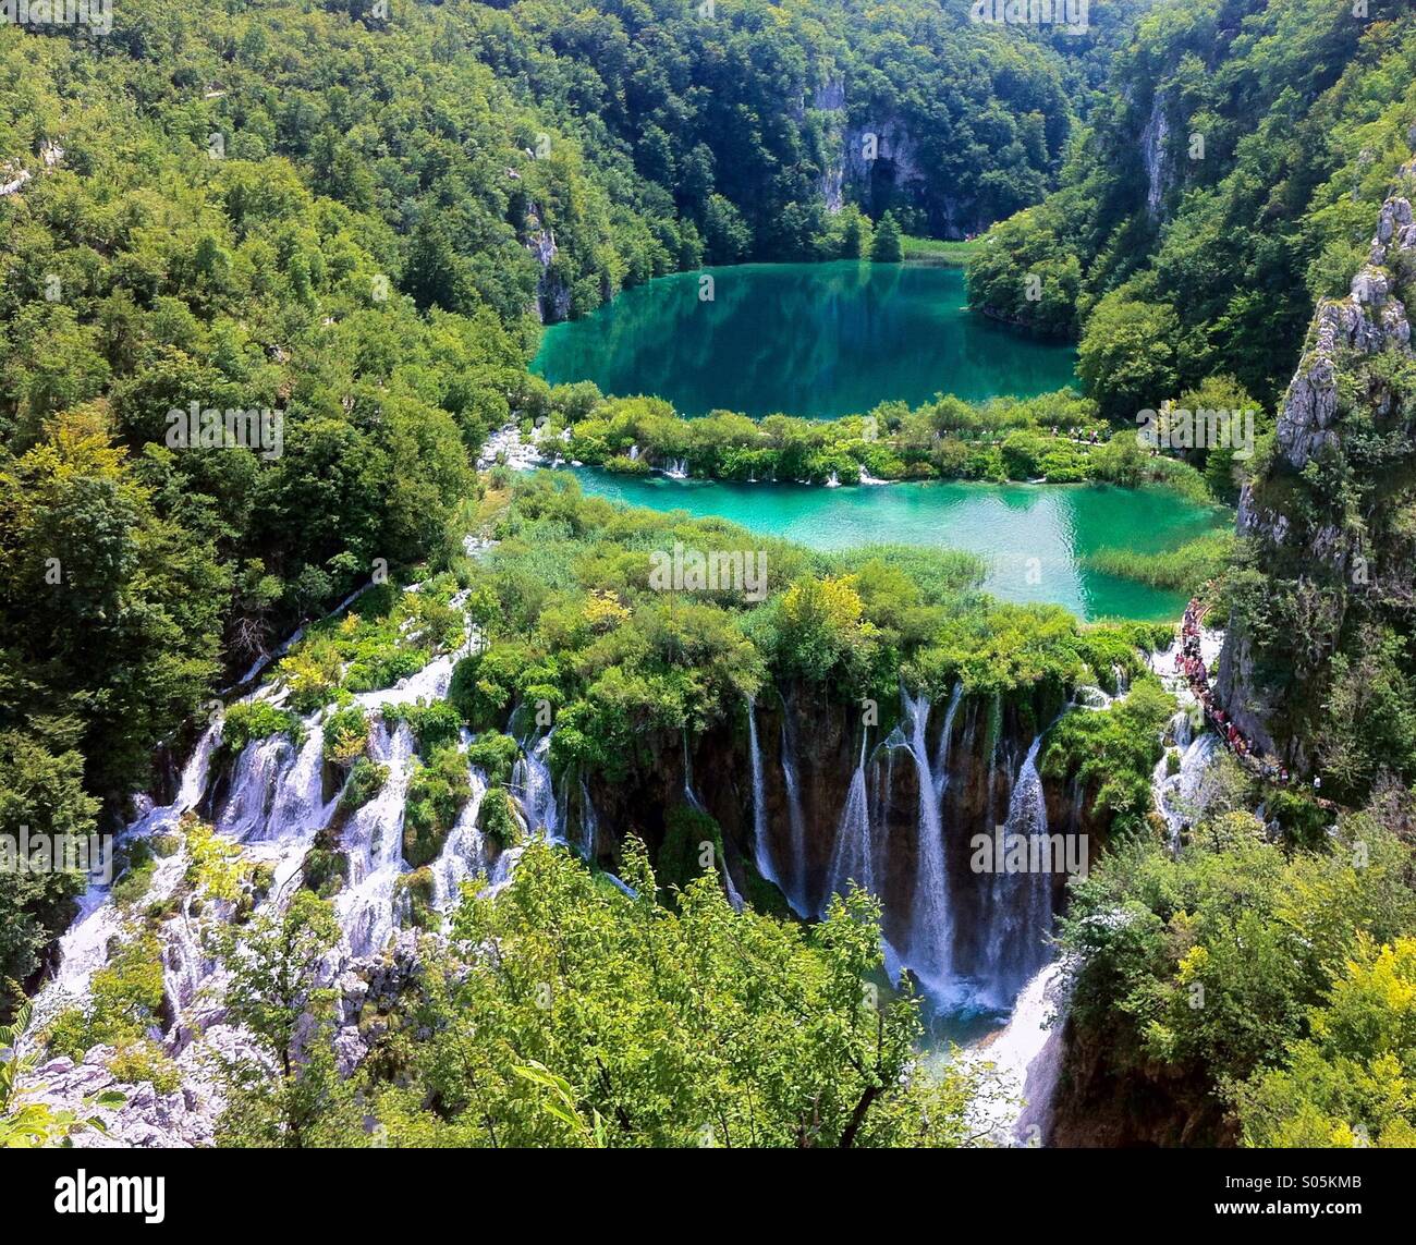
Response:
[[[919,999],[881,983],[874,901],[814,929],[735,914],[709,870],[661,906],[532,841],[496,897],[469,888],[453,943],[423,943],[406,1010],[358,1085],[321,1040],[327,905],[303,892],[236,932],[239,1018],[265,1058],[232,1078],[224,1144],[960,1146],[984,1074],[916,1057]],[[323,915],[321,915],[323,914]],[[296,1057],[296,1052],[300,1052]],[[362,1102],[362,1119],[354,1109]]]

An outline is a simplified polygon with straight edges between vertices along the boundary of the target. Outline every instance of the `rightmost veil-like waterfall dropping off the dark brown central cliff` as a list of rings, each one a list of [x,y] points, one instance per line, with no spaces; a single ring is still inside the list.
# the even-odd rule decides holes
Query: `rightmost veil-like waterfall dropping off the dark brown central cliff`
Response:
[[[1011,999],[1048,956],[1042,939],[1052,926],[1052,854],[1044,850],[1048,806],[1037,765],[1041,744],[1042,735],[1038,735],[1018,769],[1001,844],[994,834],[987,984],[998,1003]],[[1034,846],[1037,853],[1029,850]],[[1020,854],[1022,867],[1010,871],[1008,865],[1017,865]]]

